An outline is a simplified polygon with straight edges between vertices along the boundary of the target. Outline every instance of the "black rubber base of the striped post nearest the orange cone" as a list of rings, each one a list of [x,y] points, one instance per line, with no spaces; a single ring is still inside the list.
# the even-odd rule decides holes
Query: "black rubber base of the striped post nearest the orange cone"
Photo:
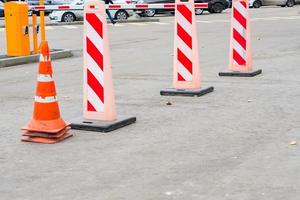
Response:
[[[110,132],[136,122],[136,117],[120,117],[115,121],[97,121],[80,118],[71,123],[71,129]]]

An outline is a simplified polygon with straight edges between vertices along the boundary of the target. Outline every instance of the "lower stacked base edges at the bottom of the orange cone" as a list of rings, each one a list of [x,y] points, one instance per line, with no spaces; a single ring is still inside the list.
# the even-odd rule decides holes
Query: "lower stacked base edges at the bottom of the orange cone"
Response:
[[[66,131],[68,131],[68,130],[66,130]],[[72,133],[66,133],[66,131],[64,132],[64,134],[60,135],[60,137],[58,137],[58,138],[47,137],[47,135],[40,135],[42,137],[37,136],[38,134],[45,134],[45,133],[38,133],[36,136],[22,135],[21,141],[22,142],[42,143],[42,144],[55,144],[55,143],[58,143],[60,141],[63,141],[65,139],[73,136]]]

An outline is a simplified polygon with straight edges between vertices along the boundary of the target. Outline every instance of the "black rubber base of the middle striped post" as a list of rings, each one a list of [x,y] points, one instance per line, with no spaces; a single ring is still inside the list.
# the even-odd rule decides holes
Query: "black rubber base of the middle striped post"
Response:
[[[207,93],[210,93],[214,91],[214,87],[208,87],[208,88],[200,88],[200,89],[174,89],[174,88],[167,88],[165,90],[160,91],[160,95],[162,96],[202,96]]]

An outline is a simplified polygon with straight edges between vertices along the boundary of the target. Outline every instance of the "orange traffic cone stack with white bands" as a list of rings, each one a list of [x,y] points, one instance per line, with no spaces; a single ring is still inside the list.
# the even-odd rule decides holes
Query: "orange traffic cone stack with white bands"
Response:
[[[48,43],[43,41],[40,46],[40,63],[34,101],[33,117],[22,128],[21,140],[53,144],[69,138],[72,134],[67,124],[60,116],[56,98],[55,83],[52,79],[52,65]]]

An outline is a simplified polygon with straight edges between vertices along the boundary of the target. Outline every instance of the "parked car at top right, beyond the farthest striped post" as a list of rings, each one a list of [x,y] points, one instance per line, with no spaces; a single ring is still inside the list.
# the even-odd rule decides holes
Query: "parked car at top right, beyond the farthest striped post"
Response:
[[[282,6],[293,7],[295,0],[249,0],[250,8],[259,8],[261,6]]]

